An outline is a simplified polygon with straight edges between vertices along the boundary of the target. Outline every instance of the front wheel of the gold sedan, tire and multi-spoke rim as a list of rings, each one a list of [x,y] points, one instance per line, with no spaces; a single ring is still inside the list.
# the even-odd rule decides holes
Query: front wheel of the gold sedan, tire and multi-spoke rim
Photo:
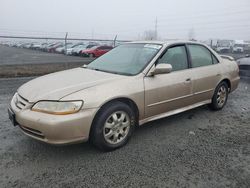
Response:
[[[128,105],[122,102],[109,103],[97,113],[90,141],[103,151],[115,150],[128,142],[135,125],[135,114]]]

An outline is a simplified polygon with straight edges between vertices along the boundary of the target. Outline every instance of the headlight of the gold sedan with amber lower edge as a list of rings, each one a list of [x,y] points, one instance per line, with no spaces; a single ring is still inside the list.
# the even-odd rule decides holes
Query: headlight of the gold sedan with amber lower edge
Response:
[[[33,111],[55,115],[66,115],[78,112],[83,101],[39,101],[31,108]]]

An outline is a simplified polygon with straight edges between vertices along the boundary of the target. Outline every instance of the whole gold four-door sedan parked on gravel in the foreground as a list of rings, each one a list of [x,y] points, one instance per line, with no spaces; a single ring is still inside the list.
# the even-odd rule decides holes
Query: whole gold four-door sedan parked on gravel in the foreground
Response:
[[[8,112],[14,125],[37,140],[90,139],[113,150],[128,142],[137,125],[205,104],[222,109],[238,83],[235,61],[204,44],[132,42],[87,66],[29,81]]]

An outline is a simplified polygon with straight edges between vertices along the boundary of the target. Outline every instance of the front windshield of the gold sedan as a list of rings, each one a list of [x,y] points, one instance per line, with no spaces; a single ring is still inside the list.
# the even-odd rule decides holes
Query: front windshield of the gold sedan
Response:
[[[124,44],[91,62],[87,68],[123,75],[136,75],[161,49],[159,44]]]

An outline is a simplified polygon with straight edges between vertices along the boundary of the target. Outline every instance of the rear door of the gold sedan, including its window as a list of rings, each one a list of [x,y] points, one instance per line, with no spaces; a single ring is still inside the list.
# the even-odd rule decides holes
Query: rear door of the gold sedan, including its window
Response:
[[[194,73],[194,100],[196,102],[209,100],[221,79],[220,63],[213,53],[203,45],[188,44],[187,47]]]

